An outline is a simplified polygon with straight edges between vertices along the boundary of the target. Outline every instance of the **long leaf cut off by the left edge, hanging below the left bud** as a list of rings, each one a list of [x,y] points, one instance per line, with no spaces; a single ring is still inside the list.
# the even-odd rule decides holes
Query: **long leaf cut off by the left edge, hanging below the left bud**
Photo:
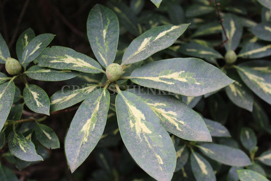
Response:
[[[14,98],[14,93],[15,93],[15,85],[12,81],[1,84],[0,85],[0,111],[1,111],[1,116],[0,116],[0,131],[2,130]]]

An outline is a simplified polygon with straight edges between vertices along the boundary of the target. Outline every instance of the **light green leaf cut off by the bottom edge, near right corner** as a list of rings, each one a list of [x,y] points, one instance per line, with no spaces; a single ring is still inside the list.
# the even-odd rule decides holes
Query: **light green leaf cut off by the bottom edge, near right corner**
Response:
[[[241,181],[247,181],[247,180],[257,180],[257,181],[268,181],[267,178],[265,178],[263,175],[252,171],[248,169],[244,170],[237,170],[239,179]]]

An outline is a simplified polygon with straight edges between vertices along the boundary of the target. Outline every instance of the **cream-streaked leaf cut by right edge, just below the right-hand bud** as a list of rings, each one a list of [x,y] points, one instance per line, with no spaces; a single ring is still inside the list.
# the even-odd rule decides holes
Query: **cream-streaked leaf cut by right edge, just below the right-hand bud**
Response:
[[[261,99],[271,104],[271,62],[249,61],[239,64],[236,68],[246,85]]]

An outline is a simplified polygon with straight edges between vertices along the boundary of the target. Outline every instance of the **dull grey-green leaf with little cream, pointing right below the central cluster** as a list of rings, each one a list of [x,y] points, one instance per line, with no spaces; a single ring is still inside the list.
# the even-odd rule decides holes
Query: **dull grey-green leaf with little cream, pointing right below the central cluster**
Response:
[[[240,149],[215,143],[205,143],[197,146],[207,157],[230,166],[247,166],[251,161],[247,154]]]

